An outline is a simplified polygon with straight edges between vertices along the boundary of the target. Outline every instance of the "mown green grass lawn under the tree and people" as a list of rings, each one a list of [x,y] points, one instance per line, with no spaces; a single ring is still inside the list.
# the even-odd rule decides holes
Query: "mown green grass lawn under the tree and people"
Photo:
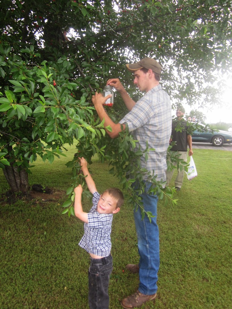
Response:
[[[50,165],[36,162],[30,184],[66,190],[72,159],[56,159]],[[158,295],[142,309],[230,309],[232,156],[229,151],[197,150],[193,155],[198,176],[185,175],[178,205],[158,202],[160,270]],[[107,164],[94,160],[93,178],[101,192],[118,186]],[[174,185],[174,177],[171,185]],[[8,188],[0,171],[0,192]],[[62,215],[61,201],[37,204],[19,201],[0,204],[0,308],[88,308],[89,256],[78,242],[83,223]],[[90,201],[84,201],[87,211]],[[124,203],[112,226],[114,269],[110,279],[110,308],[122,308],[120,300],[138,287],[138,275],[125,270],[139,261],[131,205]],[[125,271],[124,271],[125,270]]]

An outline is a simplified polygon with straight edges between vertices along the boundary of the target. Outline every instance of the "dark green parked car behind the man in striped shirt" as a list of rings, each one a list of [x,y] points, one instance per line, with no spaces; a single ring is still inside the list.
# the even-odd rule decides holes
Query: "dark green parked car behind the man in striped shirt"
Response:
[[[202,125],[198,123],[198,125]],[[205,125],[202,125],[205,127]],[[206,132],[195,130],[192,134],[192,142],[212,143],[213,146],[222,146],[223,144],[232,143],[232,133],[228,131],[217,130],[213,131],[207,128]]]

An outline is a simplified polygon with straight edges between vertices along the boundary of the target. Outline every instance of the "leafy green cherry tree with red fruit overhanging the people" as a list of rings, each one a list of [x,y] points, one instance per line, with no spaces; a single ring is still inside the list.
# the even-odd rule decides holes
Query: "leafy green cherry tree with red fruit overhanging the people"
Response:
[[[231,67],[230,1],[5,0],[0,6],[0,167],[13,192],[28,191],[38,156],[52,163],[74,141],[79,155],[110,160],[130,186],[128,158],[136,165],[141,155],[131,151],[135,141],[128,132],[110,140],[91,103],[109,77],[140,97],[127,62],[156,58],[173,104],[219,102],[215,81]],[[126,113],[117,95],[108,112],[114,121]],[[77,158],[70,164],[76,183]]]

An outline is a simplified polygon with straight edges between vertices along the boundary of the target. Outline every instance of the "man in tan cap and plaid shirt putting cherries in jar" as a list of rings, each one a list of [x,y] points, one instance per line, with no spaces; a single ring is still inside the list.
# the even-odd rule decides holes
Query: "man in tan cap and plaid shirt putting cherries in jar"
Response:
[[[92,102],[100,120],[105,119],[104,126],[111,126],[112,132],[106,130],[111,138],[118,137],[118,134],[128,126],[129,132],[135,140],[138,140],[141,151],[148,148],[155,148],[150,151],[148,160],[141,158],[141,167],[157,175],[157,180],[166,180],[165,171],[166,152],[169,146],[171,134],[172,113],[169,95],[159,84],[162,67],[153,58],[144,58],[140,61],[127,64],[127,69],[134,73],[134,84],[145,95],[135,102],[128,95],[118,78],[111,78],[107,85],[115,87],[120,93],[128,113],[119,123],[114,123],[107,115],[103,104],[110,95],[103,97],[101,93],[92,96]],[[137,149],[135,148],[135,151]],[[154,173],[154,174],[153,174]],[[138,239],[138,251],[140,261],[138,265],[128,264],[126,267],[133,273],[139,273],[138,290],[122,299],[123,308],[130,309],[140,307],[148,300],[154,299],[157,292],[157,280],[159,270],[159,229],[157,226],[157,201],[158,197],[148,194],[151,183],[144,177],[144,193],[141,194],[144,210],[150,211],[155,217],[149,219],[145,216],[142,220],[141,212],[134,210],[135,228]],[[141,188],[141,184],[135,183],[134,188]]]

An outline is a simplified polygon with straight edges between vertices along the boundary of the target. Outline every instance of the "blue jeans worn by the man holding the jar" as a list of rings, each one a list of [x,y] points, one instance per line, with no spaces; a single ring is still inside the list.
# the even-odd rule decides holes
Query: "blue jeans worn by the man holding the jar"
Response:
[[[134,185],[138,188],[138,185]],[[138,290],[145,295],[155,294],[157,291],[158,270],[160,265],[159,250],[159,228],[157,220],[157,201],[156,195],[148,194],[151,183],[145,183],[145,190],[141,198],[144,210],[150,211],[155,217],[151,218],[151,223],[145,214],[142,220],[140,207],[134,210],[135,228],[138,239],[138,251],[140,255],[139,278],[140,284]]]

